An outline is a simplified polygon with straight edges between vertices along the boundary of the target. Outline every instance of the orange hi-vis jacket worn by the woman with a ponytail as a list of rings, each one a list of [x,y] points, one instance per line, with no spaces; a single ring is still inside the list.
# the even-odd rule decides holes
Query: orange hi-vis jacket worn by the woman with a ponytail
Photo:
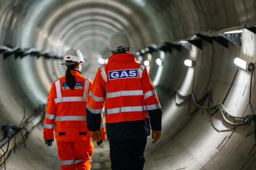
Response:
[[[66,84],[65,76],[52,84],[44,119],[44,139],[54,139],[54,120],[55,138],[58,141],[75,142],[91,138],[86,123],[86,103],[92,81],[83,77],[77,70],[71,72],[76,77],[74,90]],[[102,130],[100,139],[104,140],[106,135],[103,117],[100,128]]]

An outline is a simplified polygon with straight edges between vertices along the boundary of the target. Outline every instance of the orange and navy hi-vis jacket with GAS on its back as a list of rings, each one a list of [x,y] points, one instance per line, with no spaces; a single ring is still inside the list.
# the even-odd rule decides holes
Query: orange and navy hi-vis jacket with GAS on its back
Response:
[[[100,128],[105,102],[108,140],[144,138],[161,131],[162,109],[146,68],[134,55],[114,54],[100,67],[88,95],[87,128]]]

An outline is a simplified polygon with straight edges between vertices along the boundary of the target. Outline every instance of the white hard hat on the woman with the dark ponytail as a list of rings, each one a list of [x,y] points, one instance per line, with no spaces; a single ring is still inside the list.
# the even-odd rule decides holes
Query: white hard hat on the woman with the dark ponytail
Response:
[[[73,61],[78,63],[85,62],[82,53],[77,49],[70,49],[65,53],[65,56],[63,57],[63,62],[66,62],[66,61]],[[66,63],[62,63],[62,64],[66,64]]]

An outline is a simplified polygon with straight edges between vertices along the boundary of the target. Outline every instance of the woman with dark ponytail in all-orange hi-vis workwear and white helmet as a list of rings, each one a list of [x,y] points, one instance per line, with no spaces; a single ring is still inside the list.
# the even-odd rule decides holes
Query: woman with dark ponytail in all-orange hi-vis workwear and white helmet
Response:
[[[81,75],[84,63],[82,53],[77,49],[66,52],[63,65],[67,66],[66,76],[56,80],[47,99],[44,119],[45,144],[52,145],[55,132],[62,170],[90,170],[93,154],[91,132],[86,125],[86,103],[92,81]],[[106,139],[103,118],[100,140]],[[99,141],[97,144],[100,145]]]

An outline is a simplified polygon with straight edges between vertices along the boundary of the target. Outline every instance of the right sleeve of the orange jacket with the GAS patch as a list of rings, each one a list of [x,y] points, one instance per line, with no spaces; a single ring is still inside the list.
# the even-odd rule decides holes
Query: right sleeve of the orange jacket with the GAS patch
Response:
[[[146,109],[150,116],[151,129],[153,131],[161,131],[162,130],[162,108],[159,103],[156,90],[151,82],[150,76],[148,75],[145,67],[143,69],[142,76],[141,76],[141,84],[142,84],[142,89],[144,93]]]

